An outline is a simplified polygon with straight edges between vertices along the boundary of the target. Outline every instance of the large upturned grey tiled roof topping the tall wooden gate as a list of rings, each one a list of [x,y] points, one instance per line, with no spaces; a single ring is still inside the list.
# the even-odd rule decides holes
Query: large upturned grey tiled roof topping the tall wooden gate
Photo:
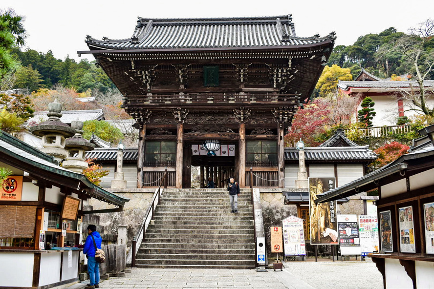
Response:
[[[334,41],[334,33],[320,38],[295,34],[291,15],[220,19],[139,18],[131,38],[96,40],[87,44],[108,49],[166,49],[306,45]]]

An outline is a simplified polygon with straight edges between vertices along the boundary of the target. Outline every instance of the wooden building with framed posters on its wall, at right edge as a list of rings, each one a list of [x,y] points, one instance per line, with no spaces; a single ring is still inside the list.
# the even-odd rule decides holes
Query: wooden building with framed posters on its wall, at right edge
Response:
[[[421,289],[434,284],[434,125],[419,133],[408,154],[315,201],[378,189],[380,253],[369,257],[383,275],[384,288]]]

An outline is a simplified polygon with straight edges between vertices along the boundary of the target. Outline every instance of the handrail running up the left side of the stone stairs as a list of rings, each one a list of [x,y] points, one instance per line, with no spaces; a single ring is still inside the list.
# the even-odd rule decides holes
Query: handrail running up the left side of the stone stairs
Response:
[[[145,239],[145,232],[148,229],[149,224],[151,223],[151,220],[154,216],[155,208],[157,207],[158,203],[160,202],[161,198],[161,186],[164,184],[164,188],[167,188],[167,168],[164,172],[164,176],[161,179],[160,185],[155,190],[152,203],[148,207],[145,213],[145,217],[143,218],[143,223],[140,226],[140,228],[137,231],[137,234],[132,238],[132,255],[131,255],[131,267],[135,267],[135,256],[137,254],[138,249],[137,243],[141,244],[142,241]]]

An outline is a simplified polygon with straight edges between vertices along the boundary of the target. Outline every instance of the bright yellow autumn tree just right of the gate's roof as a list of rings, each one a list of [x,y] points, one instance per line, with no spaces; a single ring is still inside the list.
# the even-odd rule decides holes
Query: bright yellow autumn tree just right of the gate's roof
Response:
[[[351,81],[351,71],[336,64],[331,67],[326,65],[315,88],[319,90],[321,96],[326,96],[336,91],[339,80]]]

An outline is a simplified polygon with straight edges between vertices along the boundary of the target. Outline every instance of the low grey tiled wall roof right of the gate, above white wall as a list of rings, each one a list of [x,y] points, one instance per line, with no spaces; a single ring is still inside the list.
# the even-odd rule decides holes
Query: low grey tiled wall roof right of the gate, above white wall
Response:
[[[317,161],[362,161],[372,162],[377,155],[368,146],[344,146],[344,147],[305,147],[304,157],[306,162]],[[285,148],[285,161],[298,162],[298,150],[295,147]]]

